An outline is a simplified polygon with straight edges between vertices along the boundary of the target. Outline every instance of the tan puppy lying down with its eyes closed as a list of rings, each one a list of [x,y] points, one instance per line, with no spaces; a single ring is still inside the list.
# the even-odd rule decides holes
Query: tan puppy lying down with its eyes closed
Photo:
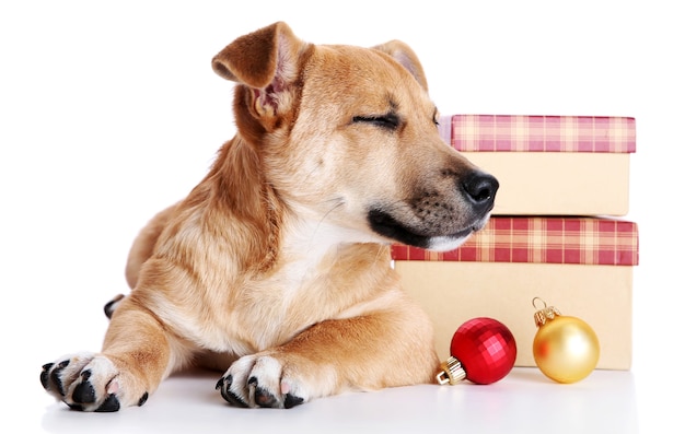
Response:
[[[135,239],[101,352],[45,364],[45,390],[109,412],[191,366],[223,372],[221,397],[244,408],[436,383],[431,321],[390,246],[456,248],[499,185],[440,138],[416,54],[314,45],[278,22],[212,68],[235,83],[234,138]]]

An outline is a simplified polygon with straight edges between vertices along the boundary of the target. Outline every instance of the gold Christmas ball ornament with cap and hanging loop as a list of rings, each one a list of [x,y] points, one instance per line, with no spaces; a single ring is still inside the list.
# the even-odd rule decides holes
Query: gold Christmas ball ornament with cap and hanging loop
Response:
[[[537,332],[533,339],[535,364],[547,377],[558,383],[576,383],[585,378],[597,365],[600,341],[594,330],[580,318],[565,316],[538,298],[544,307],[535,313]]]

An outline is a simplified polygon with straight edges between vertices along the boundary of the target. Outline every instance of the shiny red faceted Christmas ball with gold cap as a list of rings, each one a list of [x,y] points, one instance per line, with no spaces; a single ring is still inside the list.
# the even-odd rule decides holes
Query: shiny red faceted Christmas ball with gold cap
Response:
[[[464,322],[452,337],[452,354],[436,376],[441,385],[454,385],[466,378],[488,385],[502,379],[516,359],[516,341],[511,331],[492,318],[474,318]]]

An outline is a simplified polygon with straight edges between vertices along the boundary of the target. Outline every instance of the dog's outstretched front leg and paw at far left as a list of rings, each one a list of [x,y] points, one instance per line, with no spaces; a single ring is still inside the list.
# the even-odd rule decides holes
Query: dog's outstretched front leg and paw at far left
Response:
[[[170,361],[179,359],[170,343],[161,324],[126,298],[112,317],[102,353],[70,354],[48,363],[40,383],[74,410],[142,406],[171,371]]]

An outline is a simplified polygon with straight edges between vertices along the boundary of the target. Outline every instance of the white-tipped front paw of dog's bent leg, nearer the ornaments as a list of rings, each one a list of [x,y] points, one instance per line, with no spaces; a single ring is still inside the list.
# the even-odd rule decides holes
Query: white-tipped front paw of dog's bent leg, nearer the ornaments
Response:
[[[292,370],[269,355],[235,361],[217,383],[223,399],[237,407],[292,408],[309,400]]]

